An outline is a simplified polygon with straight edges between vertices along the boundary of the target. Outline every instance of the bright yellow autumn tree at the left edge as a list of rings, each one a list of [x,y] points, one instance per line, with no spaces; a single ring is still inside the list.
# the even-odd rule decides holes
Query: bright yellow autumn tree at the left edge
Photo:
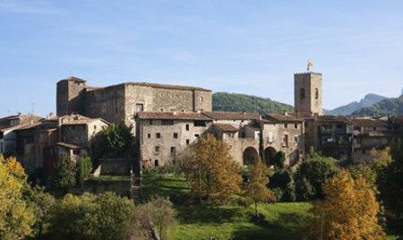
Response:
[[[33,236],[34,211],[24,199],[27,176],[13,157],[0,155],[0,239],[25,239]]]

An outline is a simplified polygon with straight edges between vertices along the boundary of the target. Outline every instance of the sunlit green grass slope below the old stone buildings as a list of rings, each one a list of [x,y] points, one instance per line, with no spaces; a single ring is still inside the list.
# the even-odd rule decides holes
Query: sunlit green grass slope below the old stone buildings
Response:
[[[189,202],[190,187],[184,177],[148,174],[144,176],[145,200],[153,194],[170,197],[176,205],[178,223],[169,239],[301,239],[301,225],[309,203],[259,205],[260,220],[253,218],[253,206],[204,207]]]

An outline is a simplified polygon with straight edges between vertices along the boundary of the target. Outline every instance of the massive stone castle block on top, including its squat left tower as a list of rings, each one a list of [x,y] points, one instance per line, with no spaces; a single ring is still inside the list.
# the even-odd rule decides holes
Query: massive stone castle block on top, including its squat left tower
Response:
[[[211,111],[211,90],[146,82],[94,88],[70,77],[57,82],[56,102],[57,116],[77,113],[135,126],[135,116],[142,111]]]

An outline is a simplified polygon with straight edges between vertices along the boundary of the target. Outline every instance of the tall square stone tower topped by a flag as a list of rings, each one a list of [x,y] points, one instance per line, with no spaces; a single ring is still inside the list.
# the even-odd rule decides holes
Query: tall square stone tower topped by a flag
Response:
[[[294,107],[297,116],[321,116],[322,73],[294,74]]]

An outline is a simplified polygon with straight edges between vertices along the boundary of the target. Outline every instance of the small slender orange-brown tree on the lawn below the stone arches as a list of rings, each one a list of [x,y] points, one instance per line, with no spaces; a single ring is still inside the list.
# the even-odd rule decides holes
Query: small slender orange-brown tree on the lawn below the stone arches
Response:
[[[254,166],[250,172],[249,182],[245,187],[245,195],[254,202],[254,214],[258,218],[257,204],[259,202],[275,201],[275,196],[266,186],[269,184],[269,167],[262,163],[261,159],[255,159]]]

